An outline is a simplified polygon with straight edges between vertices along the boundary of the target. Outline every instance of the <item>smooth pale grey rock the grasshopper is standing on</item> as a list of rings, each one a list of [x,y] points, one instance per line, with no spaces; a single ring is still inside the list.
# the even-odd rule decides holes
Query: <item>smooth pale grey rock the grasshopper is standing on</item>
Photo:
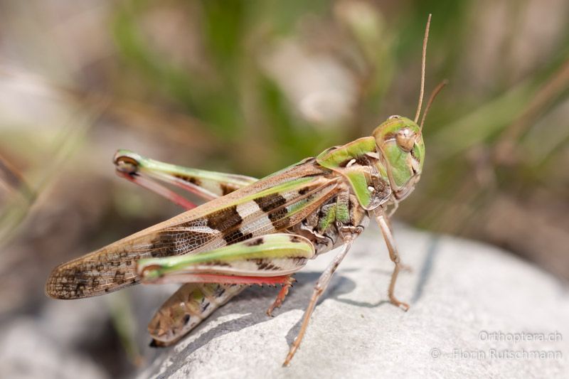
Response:
[[[396,287],[408,312],[386,301],[393,264],[379,231],[368,228],[319,302],[290,367],[282,361],[334,252],[296,275],[274,318],[265,310],[277,289],[250,288],[157,353],[139,378],[569,378],[565,283],[496,247],[401,227],[395,239],[413,267]]]

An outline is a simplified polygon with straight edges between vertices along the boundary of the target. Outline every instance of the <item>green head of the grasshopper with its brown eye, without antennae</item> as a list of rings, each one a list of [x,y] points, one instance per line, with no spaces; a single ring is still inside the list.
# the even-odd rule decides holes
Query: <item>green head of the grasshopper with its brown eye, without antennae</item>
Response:
[[[408,196],[420,178],[425,158],[421,129],[407,117],[391,116],[373,131],[395,198]]]

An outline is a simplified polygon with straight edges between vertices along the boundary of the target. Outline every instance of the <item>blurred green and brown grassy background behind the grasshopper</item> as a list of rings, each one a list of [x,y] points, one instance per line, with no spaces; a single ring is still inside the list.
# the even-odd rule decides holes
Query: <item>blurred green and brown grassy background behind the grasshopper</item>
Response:
[[[413,117],[429,13],[427,94],[450,84],[395,219],[569,279],[568,1],[0,1],[3,372],[40,370],[29,351],[59,377],[145,364],[139,309],[166,292],[43,294],[58,263],[180,212],[115,176],[117,149],[262,177]]]

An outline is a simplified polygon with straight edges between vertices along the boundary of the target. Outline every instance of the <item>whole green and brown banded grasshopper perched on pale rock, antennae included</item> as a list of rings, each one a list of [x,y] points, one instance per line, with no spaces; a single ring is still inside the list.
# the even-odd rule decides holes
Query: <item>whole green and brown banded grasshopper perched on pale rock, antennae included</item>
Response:
[[[301,329],[283,364],[288,365],[336,268],[369,219],[375,218],[395,265],[389,300],[407,311],[409,305],[395,297],[403,265],[388,219],[420,178],[425,158],[422,125],[444,85],[432,92],[418,124],[429,25],[430,16],[414,120],[391,116],[370,137],[331,147],[260,180],[117,151],[114,162],[119,176],[174,201],[186,212],[55,267],[46,294],[79,299],[140,282],[183,283],[149,323],[152,344],[169,346],[251,284],[282,286],[267,310],[272,315],[287,296],[294,272],[307,260],[341,247],[314,286]],[[159,181],[207,202],[197,206]]]

